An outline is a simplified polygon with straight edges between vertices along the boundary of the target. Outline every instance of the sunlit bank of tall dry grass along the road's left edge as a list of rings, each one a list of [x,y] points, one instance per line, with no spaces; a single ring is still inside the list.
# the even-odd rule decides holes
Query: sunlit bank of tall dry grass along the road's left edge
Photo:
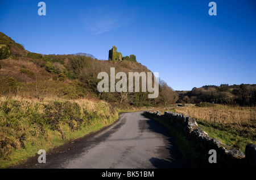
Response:
[[[0,98],[0,168],[19,164],[49,150],[96,132],[119,118],[116,106],[88,99]]]

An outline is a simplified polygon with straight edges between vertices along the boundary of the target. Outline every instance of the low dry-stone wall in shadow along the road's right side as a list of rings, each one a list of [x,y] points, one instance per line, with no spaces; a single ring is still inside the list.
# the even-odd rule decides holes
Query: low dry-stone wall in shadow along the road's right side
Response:
[[[188,139],[199,143],[205,153],[208,154],[210,149],[217,152],[217,163],[226,167],[243,167],[243,168],[256,168],[256,145],[246,145],[245,154],[239,149],[232,148],[225,145],[221,140],[210,137],[207,132],[203,131],[196,120],[190,116],[184,116],[175,112],[164,112],[161,115],[160,111],[152,112],[146,111],[147,114],[158,118],[165,119],[168,123],[175,125],[187,134]],[[210,155],[208,155],[210,156]]]

